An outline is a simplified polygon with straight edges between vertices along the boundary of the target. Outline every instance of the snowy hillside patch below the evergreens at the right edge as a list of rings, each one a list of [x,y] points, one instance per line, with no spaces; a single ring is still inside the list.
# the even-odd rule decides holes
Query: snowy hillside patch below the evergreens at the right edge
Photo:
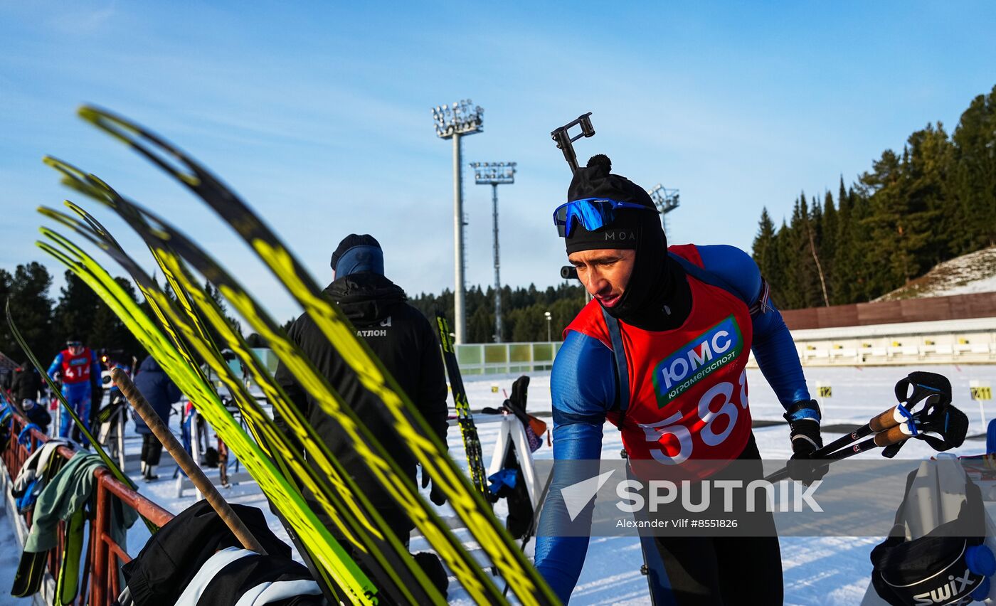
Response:
[[[875,301],[950,297],[996,291],[996,247],[937,264],[916,280]]]

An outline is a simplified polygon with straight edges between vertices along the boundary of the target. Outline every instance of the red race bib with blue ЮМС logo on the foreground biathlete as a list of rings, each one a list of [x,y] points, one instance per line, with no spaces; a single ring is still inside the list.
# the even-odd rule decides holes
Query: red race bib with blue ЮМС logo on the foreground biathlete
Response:
[[[671,247],[701,266],[694,246]],[[753,324],[747,305],[688,277],[692,310],[676,329],[642,330],[619,322],[629,379],[622,445],[633,460],[665,465],[736,459],[750,438],[747,372]],[[592,301],[567,327],[609,348],[609,326]],[[619,427],[620,413],[609,414]]]

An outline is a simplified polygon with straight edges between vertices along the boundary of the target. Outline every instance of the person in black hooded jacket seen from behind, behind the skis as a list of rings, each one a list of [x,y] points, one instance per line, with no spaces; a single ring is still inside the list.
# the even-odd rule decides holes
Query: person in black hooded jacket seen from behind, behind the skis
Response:
[[[343,309],[357,334],[366,339],[373,353],[445,443],[448,428],[446,376],[432,325],[420,311],[405,303],[404,291],[384,277],[383,252],[373,236],[351,234],[344,239],[332,255],[332,269],[335,279],[325,289],[324,296]],[[356,373],[307,313],[295,320],[289,336],[414,482],[416,461],[379,413],[378,408],[383,403],[363,387]],[[373,478],[339,424],[321,410],[283,363],[277,367],[276,380],[390,524],[398,539],[407,544],[414,527],[411,520]],[[286,429],[279,416],[276,422]],[[335,525],[317,502],[308,495],[306,499],[329,530],[338,536]],[[433,491],[432,501],[442,505],[441,492]]]

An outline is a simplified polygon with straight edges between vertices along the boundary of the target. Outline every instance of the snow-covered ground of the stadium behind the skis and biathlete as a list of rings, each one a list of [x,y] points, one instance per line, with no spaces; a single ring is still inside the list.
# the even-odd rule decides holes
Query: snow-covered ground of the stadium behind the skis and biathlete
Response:
[[[922,369],[922,368],[915,368]],[[989,380],[996,382],[996,366],[962,365],[936,366],[926,368],[933,372],[944,374],[951,380],[954,389],[954,402],[968,415],[971,422],[969,436],[982,434],[985,427],[980,418],[979,406],[968,398],[970,380]],[[867,423],[869,418],[894,404],[892,388],[897,380],[904,377],[914,368],[903,367],[835,367],[809,368],[807,379],[810,390],[816,393],[816,384],[833,387],[833,397],[821,401],[824,408],[826,425]],[[503,390],[510,390],[514,376],[496,378],[467,377],[466,387],[472,408],[476,411],[482,407],[498,406],[504,400]],[[748,371],[750,386],[749,399],[752,416],[755,420],[780,421],[784,412],[778,404],[774,393],[768,387],[759,371]],[[497,392],[493,392],[497,387]],[[529,389],[529,410],[534,414],[544,416],[551,410],[550,375],[536,374],[532,377]],[[996,407],[986,411],[986,418],[996,417]],[[497,436],[498,424],[488,422],[494,417],[478,415],[479,433],[484,450],[485,461],[489,461]],[[176,417],[170,424],[177,430]],[[130,432],[130,428],[128,430]],[[180,497],[176,496],[176,485],[171,480],[175,467],[168,455],[163,454],[159,468],[160,480],[144,484],[138,474],[137,453],[140,441],[133,434],[125,446],[129,457],[126,467],[128,474],[138,484],[139,491],[149,499],[177,512],[194,503],[194,492],[186,490]],[[764,458],[786,459],[791,454],[788,441],[788,431],[785,425],[776,425],[755,429],[758,447]],[[463,446],[459,431],[453,427],[449,433],[449,448],[454,459],[465,465]],[[984,441],[968,440],[959,449],[961,454],[977,454],[984,450]],[[622,442],[619,432],[611,427],[605,432],[603,442],[603,458],[617,459]],[[926,445],[913,441],[907,445],[900,456],[909,459],[929,457],[931,451]],[[869,455],[873,456],[873,455]],[[536,453],[537,458],[551,458],[552,452],[544,445]],[[234,470],[233,470],[234,471]],[[216,471],[209,470],[216,474]],[[246,505],[256,505],[268,512],[265,500],[254,483],[233,486],[222,489],[222,494],[230,501]],[[439,508],[443,515],[452,515],[448,506]],[[496,506],[496,512],[504,515],[504,505]],[[270,526],[278,536],[286,537],[286,533],[275,517],[270,516]],[[13,580],[17,554],[13,551],[13,536],[10,535],[8,524],[0,524],[0,596],[6,594]],[[473,546],[472,537],[465,530],[458,530],[457,535]],[[145,540],[147,531],[141,524],[134,525],[128,532],[128,552],[137,553]],[[783,537],[782,562],[785,575],[786,604],[798,605],[851,605],[861,601],[868,585],[871,573],[869,554],[871,547],[880,539],[861,537]],[[411,541],[413,550],[428,549],[424,539],[414,537]],[[530,554],[532,547],[530,547]],[[637,540],[632,537],[597,537],[592,540],[585,568],[582,571],[578,587],[574,592],[572,604],[645,604],[648,600],[646,582],[639,573],[642,559]],[[9,596],[0,597],[0,604],[17,603]],[[469,603],[466,594],[458,585],[451,584],[450,600],[453,603]]]

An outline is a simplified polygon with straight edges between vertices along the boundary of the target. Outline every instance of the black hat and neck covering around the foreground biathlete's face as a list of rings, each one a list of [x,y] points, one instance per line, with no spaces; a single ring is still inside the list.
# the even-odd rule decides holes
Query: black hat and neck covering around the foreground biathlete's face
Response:
[[[667,258],[667,237],[649,194],[621,175],[612,174],[612,160],[592,156],[579,168],[568,188],[568,201],[609,198],[645,206],[621,208],[612,225],[588,231],[577,224],[565,239],[567,254],[599,249],[635,250],[629,283],[619,303],[605,307],[610,315],[645,330],[668,330],[688,316],[691,297],[684,271]]]

